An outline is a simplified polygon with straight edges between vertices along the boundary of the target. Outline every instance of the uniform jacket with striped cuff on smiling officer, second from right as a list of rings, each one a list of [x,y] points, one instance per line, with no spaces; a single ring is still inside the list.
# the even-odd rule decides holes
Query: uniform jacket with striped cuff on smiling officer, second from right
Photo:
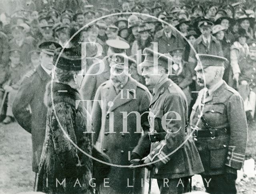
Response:
[[[164,80],[150,102],[150,132],[167,132],[164,140],[151,143],[148,158],[155,162],[153,178],[174,179],[204,171],[194,142],[186,136],[187,120],[185,94],[172,80]]]

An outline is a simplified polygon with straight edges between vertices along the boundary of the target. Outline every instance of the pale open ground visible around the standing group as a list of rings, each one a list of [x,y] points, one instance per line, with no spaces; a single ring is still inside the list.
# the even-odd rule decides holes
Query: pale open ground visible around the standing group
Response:
[[[256,124],[249,129],[248,159],[256,160]],[[0,194],[16,194],[32,191],[34,176],[32,172],[31,136],[17,123],[0,126]],[[156,182],[152,184],[152,193],[158,194]],[[242,178],[238,183],[238,194],[256,193],[256,178]],[[196,190],[204,188],[195,187]]]

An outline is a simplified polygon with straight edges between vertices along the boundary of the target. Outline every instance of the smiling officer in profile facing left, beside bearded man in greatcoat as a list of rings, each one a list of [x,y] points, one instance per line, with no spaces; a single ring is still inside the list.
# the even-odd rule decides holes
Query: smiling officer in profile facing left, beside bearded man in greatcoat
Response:
[[[148,116],[150,132],[142,137],[132,155],[134,158],[142,158],[141,162],[144,164],[153,162],[146,167],[152,170],[150,178],[157,179],[160,193],[184,193],[189,189],[189,178],[204,171],[194,142],[190,138],[186,139],[186,96],[168,78],[172,58],[148,48],[143,53],[146,54],[145,60],[139,64],[142,67],[142,76],[145,77],[146,85],[154,88]],[[154,58],[158,59],[158,64],[154,64]],[[177,116],[179,121],[176,120]],[[169,121],[163,122],[163,119]],[[182,148],[179,148],[182,144]],[[166,178],[168,186],[164,185]],[[179,185],[179,181],[182,184]]]

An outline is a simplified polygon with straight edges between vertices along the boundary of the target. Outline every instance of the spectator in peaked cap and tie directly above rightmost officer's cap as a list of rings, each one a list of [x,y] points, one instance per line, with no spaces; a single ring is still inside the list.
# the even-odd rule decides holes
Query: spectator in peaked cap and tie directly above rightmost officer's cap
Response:
[[[194,49],[196,50],[196,53],[199,54],[213,54],[217,56],[223,56],[220,42],[211,34],[212,25],[213,23],[208,19],[204,19],[198,22],[198,28],[202,35],[199,36],[194,42]],[[194,67],[196,66],[196,53],[194,50],[190,50],[188,62],[191,64],[191,72],[194,71]]]

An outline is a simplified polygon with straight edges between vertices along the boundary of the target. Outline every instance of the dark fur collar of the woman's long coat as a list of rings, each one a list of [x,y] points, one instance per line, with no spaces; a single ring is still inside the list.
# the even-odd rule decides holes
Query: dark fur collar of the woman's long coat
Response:
[[[78,104],[77,100],[82,100],[81,95],[76,89],[71,88],[68,84],[53,82],[52,91],[51,82],[48,82],[48,84],[46,85],[46,92],[44,94],[44,104],[48,107],[52,106],[52,101],[54,104],[57,104],[59,102],[65,102],[66,104],[69,104],[74,108],[77,108],[79,111],[83,111],[83,103],[80,102]]]

